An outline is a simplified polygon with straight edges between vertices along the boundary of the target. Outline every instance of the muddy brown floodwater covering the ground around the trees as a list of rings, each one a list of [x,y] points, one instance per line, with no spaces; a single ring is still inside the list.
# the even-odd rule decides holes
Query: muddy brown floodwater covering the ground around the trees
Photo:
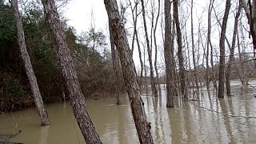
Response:
[[[244,93],[238,81],[231,86],[232,97],[218,99],[213,88],[210,95],[202,88],[199,102],[175,98],[175,108],[166,108],[164,86],[162,98],[142,96],[154,143],[256,143],[256,118],[245,118],[256,117],[256,88]],[[103,143],[138,143],[128,98],[122,96],[121,102],[116,106],[114,97],[86,99]],[[11,142],[26,144],[86,143],[69,102],[46,105],[46,109],[50,126],[39,126],[38,114],[28,109],[0,115],[0,134],[22,130]]]

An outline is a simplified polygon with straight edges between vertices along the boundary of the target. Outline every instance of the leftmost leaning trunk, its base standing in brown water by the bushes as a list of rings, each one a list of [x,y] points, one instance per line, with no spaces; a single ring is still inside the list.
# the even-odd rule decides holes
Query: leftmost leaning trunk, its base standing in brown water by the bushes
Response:
[[[48,114],[46,112],[46,109],[44,108],[42,97],[38,88],[37,78],[34,75],[34,70],[30,62],[30,56],[26,50],[25,35],[22,29],[22,18],[20,17],[20,14],[18,12],[18,1],[12,0],[11,4],[12,4],[14,18],[15,18],[16,27],[17,27],[18,47],[20,50],[22,61],[24,62],[26,76],[30,82],[30,89],[34,96],[34,103],[38,110],[38,114],[41,118],[42,126],[46,126],[50,124],[48,119]]]

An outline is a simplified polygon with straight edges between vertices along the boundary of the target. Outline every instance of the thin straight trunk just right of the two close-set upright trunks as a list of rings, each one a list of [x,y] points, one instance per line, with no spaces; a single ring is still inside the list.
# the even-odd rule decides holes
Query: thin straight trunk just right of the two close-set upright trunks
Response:
[[[199,86],[198,86],[198,74],[197,74],[198,66],[197,66],[197,64],[196,64],[196,62],[195,62],[195,51],[194,51],[193,6],[194,6],[194,1],[191,0],[191,38],[192,38],[192,57],[193,57],[193,64],[194,64],[194,81],[195,81],[195,86],[197,87],[197,90],[199,90]]]

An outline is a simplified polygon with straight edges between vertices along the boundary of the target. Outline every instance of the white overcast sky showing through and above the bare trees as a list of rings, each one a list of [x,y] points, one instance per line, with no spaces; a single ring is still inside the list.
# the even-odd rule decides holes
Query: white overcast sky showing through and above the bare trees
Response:
[[[123,2],[122,0],[117,0],[117,1]],[[161,0],[161,2],[162,2],[162,0]],[[187,7],[186,8],[183,7],[183,9],[180,10],[180,14],[185,15],[185,17],[190,17],[190,2],[191,1],[185,1],[185,2],[187,3],[186,4]],[[233,8],[231,8],[231,10],[230,10],[230,18],[229,18],[229,23],[227,26],[227,31],[226,31],[226,36],[229,39],[232,36],[233,28],[234,28],[234,24],[233,24],[234,22],[232,22],[234,20],[234,14],[232,14],[232,10],[235,10],[234,7],[235,7],[236,2],[237,1],[232,1]],[[221,0],[215,0],[214,7],[217,10],[218,18],[220,18],[221,21],[222,21],[223,11],[225,10],[225,4],[226,3]],[[197,45],[197,40],[198,40],[198,18],[202,17],[202,24],[201,24],[202,27],[201,28],[203,30],[207,30],[206,27],[207,27],[208,5],[209,5],[208,0],[194,0],[193,17],[194,17],[194,42],[195,42],[195,45]],[[148,4],[147,6],[150,6],[150,4]],[[149,9],[149,7],[146,9]],[[132,32],[132,25],[131,25],[132,20],[130,20],[130,17],[131,17],[130,16],[130,8],[127,9],[127,13],[129,14],[129,15],[127,15],[129,18],[127,18],[128,21],[126,22],[126,29],[128,28],[128,30],[131,33]],[[103,0],[70,0],[69,4],[64,9],[64,16],[69,20],[67,22],[68,25],[74,26],[75,30],[77,30],[77,34],[80,34],[82,31],[89,30],[90,26],[93,24],[95,26],[96,30],[103,30],[103,32],[108,37],[108,26],[107,26],[107,24],[108,24],[107,18],[108,17],[106,14],[106,9],[105,9]],[[214,16],[214,11],[212,12],[211,18],[212,18],[212,26],[213,26],[212,27],[212,30],[213,30],[212,31],[212,42],[213,42],[214,46],[217,47],[216,52],[218,52],[218,42],[219,42],[218,29],[219,29],[219,27],[216,25],[216,18]],[[144,30],[142,28],[141,16],[138,19],[139,19],[138,20],[138,33],[141,35],[140,40],[142,42],[144,42],[143,41]],[[160,20],[161,20],[161,16],[159,18],[159,21]],[[147,17],[147,21],[149,21],[148,17]],[[182,17],[180,17],[180,21],[182,21]],[[190,36],[191,36],[191,34],[190,34],[190,18],[188,19],[186,26],[187,26],[186,31],[187,31],[188,37],[190,39]],[[150,23],[148,24],[147,28],[150,32]],[[158,50],[158,52],[163,52],[163,50],[161,50],[163,48],[163,45],[162,45],[160,24],[158,24],[158,29],[159,29],[158,30],[158,35],[159,35],[158,49],[160,49],[160,50]],[[130,38],[128,38],[128,39],[130,39]],[[106,41],[108,41],[108,39],[106,39]],[[197,46],[196,46],[196,49],[198,49]],[[202,47],[200,49],[202,50]],[[227,52],[229,51],[227,46],[226,46],[226,51]],[[154,55],[154,48],[153,48],[152,55]],[[200,55],[202,55],[202,54],[200,54]],[[162,58],[160,58],[160,56]],[[159,58],[158,62],[159,61],[163,62],[163,53],[158,54],[158,58]],[[147,61],[147,58],[146,58],[146,61]],[[138,50],[137,50],[136,44],[134,47],[134,63],[135,63],[136,67],[139,66]]]

